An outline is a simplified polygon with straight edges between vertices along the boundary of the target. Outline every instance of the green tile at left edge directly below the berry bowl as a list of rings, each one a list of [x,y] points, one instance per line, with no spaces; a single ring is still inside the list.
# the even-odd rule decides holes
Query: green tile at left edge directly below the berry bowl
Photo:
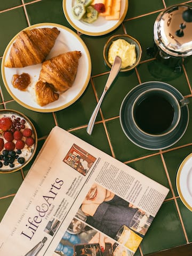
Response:
[[[17,193],[23,181],[20,171],[0,173],[0,197]]]

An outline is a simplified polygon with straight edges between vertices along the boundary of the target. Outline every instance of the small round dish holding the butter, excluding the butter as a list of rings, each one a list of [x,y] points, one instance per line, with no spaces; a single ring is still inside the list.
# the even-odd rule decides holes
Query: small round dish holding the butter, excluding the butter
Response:
[[[131,69],[135,68],[140,60],[141,60],[141,54],[142,54],[142,49],[141,49],[141,45],[140,43],[137,41],[137,39],[133,38],[130,35],[114,35],[111,36],[108,41],[106,42],[104,48],[103,48],[103,58],[105,60],[106,65],[111,68],[112,65],[109,63],[108,61],[108,52],[109,52],[109,47],[111,46],[111,44],[116,41],[117,39],[124,39],[125,41],[127,41],[130,44],[134,44],[135,45],[135,51],[136,51],[136,61],[132,66],[127,66],[125,68],[121,68],[119,71],[120,72],[125,72],[125,71],[130,71]],[[119,56],[121,57],[121,56]]]

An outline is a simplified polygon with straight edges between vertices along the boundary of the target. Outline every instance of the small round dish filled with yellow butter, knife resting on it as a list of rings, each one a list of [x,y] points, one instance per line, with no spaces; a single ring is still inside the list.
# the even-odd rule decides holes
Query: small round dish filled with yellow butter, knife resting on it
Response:
[[[111,36],[103,49],[103,58],[109,68],[112,67],[116,55],[122,59],[121,72],[135,68],[140,62],[141,54],[140,43],[127,34]]]

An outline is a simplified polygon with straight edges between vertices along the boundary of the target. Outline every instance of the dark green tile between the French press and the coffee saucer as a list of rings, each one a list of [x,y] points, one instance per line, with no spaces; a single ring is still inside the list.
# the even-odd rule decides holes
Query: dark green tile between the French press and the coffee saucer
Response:
[[[165,70],[166,74],[163,73]],[[169,67],[162,70],[162,65],[158,61],[142,63],[138,66],[138,71],[142,83],[146,81],[162,81],[174,86],[183,96],[190,94],[184,73],[175,74],[174,71],[169,70]],[[158,77],[154,72],[158,72]]]

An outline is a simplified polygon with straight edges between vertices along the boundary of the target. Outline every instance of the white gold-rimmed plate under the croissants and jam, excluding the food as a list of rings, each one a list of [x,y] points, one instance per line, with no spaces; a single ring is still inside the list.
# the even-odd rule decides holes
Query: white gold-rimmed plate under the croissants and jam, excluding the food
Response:
[[[35,101],[35,92],[34,92],[34,85],[38,81],[39,73],[42,68],[42,64],[37,64],[33,66],[28,66],[24,68],[6,68],[5,61],[9,55],[10,49],[12,44],[15,41],[17,35],[13,37],[10,43],[7,45],[3,59],[2,59],[2,77],[3,82],[7,91],[10,93],[11,97],[17,101],[20,105],[25,108],[37,111],[37,112],[53,112],[64,109],[71,104],[73,104],[85,91],[87,84],[90,81],[91,77],[91,58],[89,50],[87,46],[83,42],[83,40],[71,29],[55,24],[55,23],[39,23],[26,29],[33,29],[33,28],[53,28],[57,27],[60,31],[59,36],[55,40],[55,44],[50,51],[49,55],[46,59],[50,59],[55,57],[61,53],[65,53],[68,51],[81,51],[82,56],[78,62],[77,74],[75,77],[75,81],[73,85],[68,89],[66,92],[59,95],[59,99],[47,104],[46,106],[39,106]],[[26,30],[24,29],[24,30]],[[28,73],[30,75],[31,83],[29,85],[29,89],[27,91],[20,91],[13,87],[12,85],[12,78],[14,74],[22,74]]]

